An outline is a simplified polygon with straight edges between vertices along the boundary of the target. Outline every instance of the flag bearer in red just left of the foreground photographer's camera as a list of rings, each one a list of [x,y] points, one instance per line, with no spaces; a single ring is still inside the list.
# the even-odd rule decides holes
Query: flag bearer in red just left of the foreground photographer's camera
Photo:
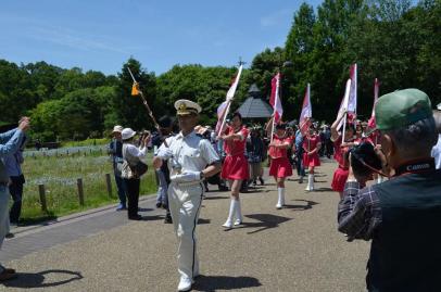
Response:
[[[331,141],[333,142],[335,153],[333,158],[338,163],[336,172],[333,172],[331,188],[333,191],[339,192],[340,199],[343,196],[344,183],[346,182],[349,175],[349,161],[348,151],[350,145],[342,143],[342,136],[339,134],[337,127],[341,120],[345,117],[345,113],[340,114],[331,125]],[[355,128],[353,124],[346,123],[346,129],[344,132],[344,141],[353,139]]]

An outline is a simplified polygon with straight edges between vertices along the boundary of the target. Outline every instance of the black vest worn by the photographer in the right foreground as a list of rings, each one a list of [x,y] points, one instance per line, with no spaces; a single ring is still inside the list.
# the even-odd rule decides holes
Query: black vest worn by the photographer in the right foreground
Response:
[[[382,221],[373,236],[369,291],[441,291],[441,170],[373,187]]]

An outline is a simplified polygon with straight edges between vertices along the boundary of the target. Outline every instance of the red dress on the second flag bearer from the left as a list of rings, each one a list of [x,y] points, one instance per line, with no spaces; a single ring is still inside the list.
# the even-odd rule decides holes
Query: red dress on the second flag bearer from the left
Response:
[[[290,137],[279,138],[277,135],[273,136],[273,143],[291,145],[292,139]],[[288,160],[287,149],[269,147],[269,156],[272,157],[269,166],[269,175],[274,177],[289,177],[292,176],[292,166]]]

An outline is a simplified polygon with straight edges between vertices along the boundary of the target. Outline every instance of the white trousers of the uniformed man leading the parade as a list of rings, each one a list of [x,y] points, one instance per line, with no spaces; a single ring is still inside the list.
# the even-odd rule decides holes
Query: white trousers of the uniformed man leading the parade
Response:
[[[199,275],[196,226],[202,204],[201,183],[175,183],[168,188],[168,205],[178,241],[178,271],[193,278]]]

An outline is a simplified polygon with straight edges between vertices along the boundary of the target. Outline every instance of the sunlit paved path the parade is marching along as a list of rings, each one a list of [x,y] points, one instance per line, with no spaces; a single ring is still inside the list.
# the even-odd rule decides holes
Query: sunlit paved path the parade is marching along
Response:
[[[323,163],[315,192],[288,181],[281,211],[269,180],[242,194],[244,225],[230,231],[220,227],[228,193],[209,192],[198,227],[202,277],[193,291],[364,291],[368,243],[349,243],[337,232],[333,167]],[[176,291],[173,227],[153,203],[141,203],[143,221],[108,207],[18,230],[0,261],[20,274],[0,291]]]

